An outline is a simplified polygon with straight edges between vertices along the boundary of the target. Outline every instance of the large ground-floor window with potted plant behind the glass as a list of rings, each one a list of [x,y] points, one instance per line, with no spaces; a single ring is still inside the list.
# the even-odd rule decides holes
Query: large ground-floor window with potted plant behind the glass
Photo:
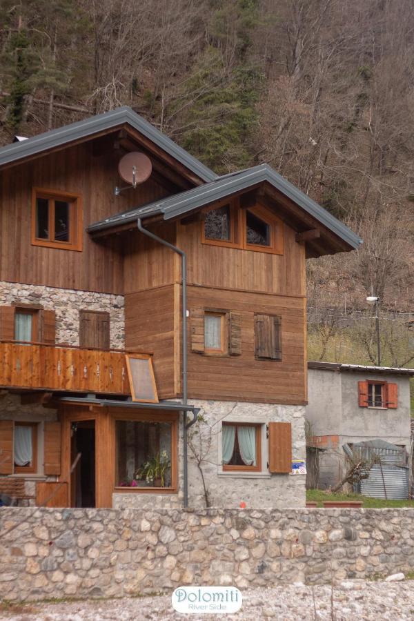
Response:
[[[115,420],[117,491],[176,491],[177,442],[177,418]]]

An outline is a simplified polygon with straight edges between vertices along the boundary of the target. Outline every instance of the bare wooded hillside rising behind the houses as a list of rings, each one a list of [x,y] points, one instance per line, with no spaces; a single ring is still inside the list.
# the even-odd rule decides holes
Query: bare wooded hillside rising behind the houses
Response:
[[[309,356],[414,356],[412,0],[2,0],[0,142],[131,106],[218,173],[267,162],[364,239],[313,259]]]

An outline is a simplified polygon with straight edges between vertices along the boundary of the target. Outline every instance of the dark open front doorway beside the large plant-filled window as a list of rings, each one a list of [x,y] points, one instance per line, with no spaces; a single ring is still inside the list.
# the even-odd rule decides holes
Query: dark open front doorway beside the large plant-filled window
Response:
[[[76,507],[96,506],[95,497],[95,420],[72,421],[70,424],[70,457],[72,464],[80,455],[70,480],[70,504]]]

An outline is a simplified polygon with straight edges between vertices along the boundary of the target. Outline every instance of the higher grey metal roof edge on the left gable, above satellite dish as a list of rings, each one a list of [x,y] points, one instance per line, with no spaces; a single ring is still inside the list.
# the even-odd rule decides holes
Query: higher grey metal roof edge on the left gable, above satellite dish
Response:
[[[201,164],[201,161],[175,144],[175,142],[148,123],[143,117],[137,115],[137,113],[131,110],[131,108],[128,108],[128,106],[116,108],[109,112],[103,112],[101,115],[50,130],[50,132],[39,134],[21,142],[8,144],[0,148],[0,166],[19,161],[19,159],[23,157],[30,157],[43,151],[69,144],[75,140],[87,138],[98,132],[110,130],[111,128],[123,124],[129,124],[132,128],[154,142],[159,148],[177,159],[183,166],[186,166],[188,170],[195,172],[203,181],[213,181],[213,179],[217,179],[217,175],[213,170]]]

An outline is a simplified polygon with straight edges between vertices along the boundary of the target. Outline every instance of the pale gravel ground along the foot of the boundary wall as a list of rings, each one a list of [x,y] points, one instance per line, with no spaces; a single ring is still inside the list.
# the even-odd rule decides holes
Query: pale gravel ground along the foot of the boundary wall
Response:
[[[313,596],[314,593],[314,596]],[[274,589],[242,591],[243,606],[227,619],[235,621],[277,620],[392,620],[414,619],[414,582],[366,582],[353,580],[335,585],[333,611],[331,586],[292,584]],[[169,621],[183,619],[171,607],[170,595],[119,600],[82,602],[39,602],[6,611],[0,608],[0,620],[16,621]],[[188,615],[191,621],[213,621],[224,615]]]

